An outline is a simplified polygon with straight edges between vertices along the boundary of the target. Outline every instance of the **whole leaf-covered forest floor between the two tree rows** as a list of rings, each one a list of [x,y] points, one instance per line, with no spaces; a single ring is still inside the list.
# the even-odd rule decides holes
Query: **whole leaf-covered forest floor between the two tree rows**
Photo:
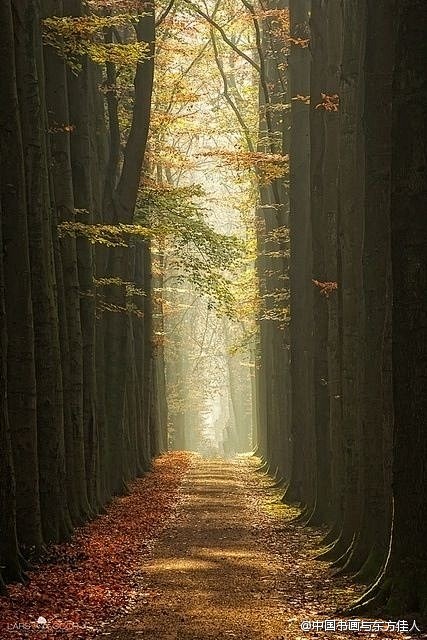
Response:
[[[293,522],[258,463],[161,456],[10,585],[1,640],[410,638],[387,621],[349,630],[336,610],[362,587],[315,559],[324,531]],[[319,630],[325,620],[336,630]]]

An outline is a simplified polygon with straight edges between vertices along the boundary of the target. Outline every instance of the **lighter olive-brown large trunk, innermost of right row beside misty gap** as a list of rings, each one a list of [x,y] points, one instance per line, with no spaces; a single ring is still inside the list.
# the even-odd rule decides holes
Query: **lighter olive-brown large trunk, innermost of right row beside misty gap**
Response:
[[[312,235],[310,220],[310,2],[290,1],[289,59],[292,105],[290,142],[290,304],[292,466],[286,498],[298,500],[310,517],[315,506],[313,422]]]

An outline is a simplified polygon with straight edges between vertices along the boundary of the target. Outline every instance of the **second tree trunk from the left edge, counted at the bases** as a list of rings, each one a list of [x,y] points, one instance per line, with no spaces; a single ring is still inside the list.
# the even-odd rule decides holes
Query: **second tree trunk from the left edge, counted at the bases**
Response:
[[[12,5],[2,3],[0,80],[1,203],[5,305],[7,309],[7,401],[17,491],[21,545],[43,545],[37,459],[34,329],[28,248],[27,193],[16,87]],[[16,46],[19,46],[17,43]]]

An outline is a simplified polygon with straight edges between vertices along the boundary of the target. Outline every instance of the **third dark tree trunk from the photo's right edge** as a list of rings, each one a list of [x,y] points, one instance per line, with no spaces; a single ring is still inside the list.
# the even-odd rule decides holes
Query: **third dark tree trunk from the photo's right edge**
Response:
[[[344,564],[362,515],[363,220],[365,2],[343,3],[340,80],[339,274],[341,389],[344,452],[343,527],[333,554]],[[343,555],[344,554],[344,555]],[[342,557],[341,557],[342,556]]]

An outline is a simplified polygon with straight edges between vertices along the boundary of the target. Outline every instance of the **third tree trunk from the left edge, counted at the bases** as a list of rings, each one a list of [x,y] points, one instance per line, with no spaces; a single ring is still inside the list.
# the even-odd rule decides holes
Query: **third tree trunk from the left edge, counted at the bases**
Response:
[[[40,502],[46,541],[68,537],[64,409],[58,309],[52,246],[52,218],[44,111],[40,14],[32,2],[13,2],[17,85],[27,179],[37,379],[37,435]],[[31,54],[29,52],[32,52]]]

